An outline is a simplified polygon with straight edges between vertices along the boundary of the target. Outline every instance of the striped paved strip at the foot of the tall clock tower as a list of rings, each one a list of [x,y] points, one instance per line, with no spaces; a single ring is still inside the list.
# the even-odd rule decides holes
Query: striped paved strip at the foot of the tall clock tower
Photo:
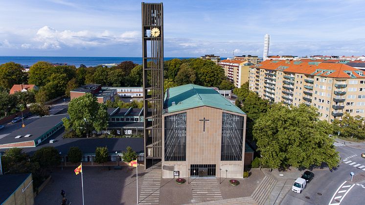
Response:
[[[154,166],[146,170],[142,189],[139,194],[139,205],[158,205],[160,202],[160,184],[162,170]]]

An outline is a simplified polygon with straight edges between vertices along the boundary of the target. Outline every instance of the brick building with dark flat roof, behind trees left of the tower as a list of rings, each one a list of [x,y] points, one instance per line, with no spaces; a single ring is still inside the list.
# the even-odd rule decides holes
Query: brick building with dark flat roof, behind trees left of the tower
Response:
[[[70,98],[72,100],[74,98],[83,96],[86,93],[91,93],[92,95],[94,95],[99,103],[105,103],[108,100],[114,102],[116,90],[102,89],[100,84],[88,84],[70,91]]]

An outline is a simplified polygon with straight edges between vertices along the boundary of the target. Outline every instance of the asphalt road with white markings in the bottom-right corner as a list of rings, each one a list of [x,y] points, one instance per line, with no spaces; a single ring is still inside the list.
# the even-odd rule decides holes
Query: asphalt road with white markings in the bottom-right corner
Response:
[[[339,167],[332,171],[313,170],[315,178],[307,185],[307,188],[301,194],[289,191],[281,205],[364,204],[365,159],[361,157],[361,153],[365,152],[364,149],[349,147],[348,143],[344,145],[344,143],[336,142],[334,145],[342,158]],[[355,173],[359,182],[351,182],[350,172]]]

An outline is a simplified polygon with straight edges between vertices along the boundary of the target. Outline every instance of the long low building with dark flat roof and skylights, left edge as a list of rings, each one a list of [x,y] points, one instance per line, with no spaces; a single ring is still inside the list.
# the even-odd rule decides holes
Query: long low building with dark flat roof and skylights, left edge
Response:
[[[41,117],[0,139],[1,148],[36,147],[63,127],[68,114]],[[48,141],[47,141],[48,142]]]

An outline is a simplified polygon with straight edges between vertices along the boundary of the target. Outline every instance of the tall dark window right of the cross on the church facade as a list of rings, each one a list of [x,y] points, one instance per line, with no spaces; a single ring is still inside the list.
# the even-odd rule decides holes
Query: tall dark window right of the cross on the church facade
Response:
[[[222,161],[242,160],[244,117],[223,113],[222,116]]]

